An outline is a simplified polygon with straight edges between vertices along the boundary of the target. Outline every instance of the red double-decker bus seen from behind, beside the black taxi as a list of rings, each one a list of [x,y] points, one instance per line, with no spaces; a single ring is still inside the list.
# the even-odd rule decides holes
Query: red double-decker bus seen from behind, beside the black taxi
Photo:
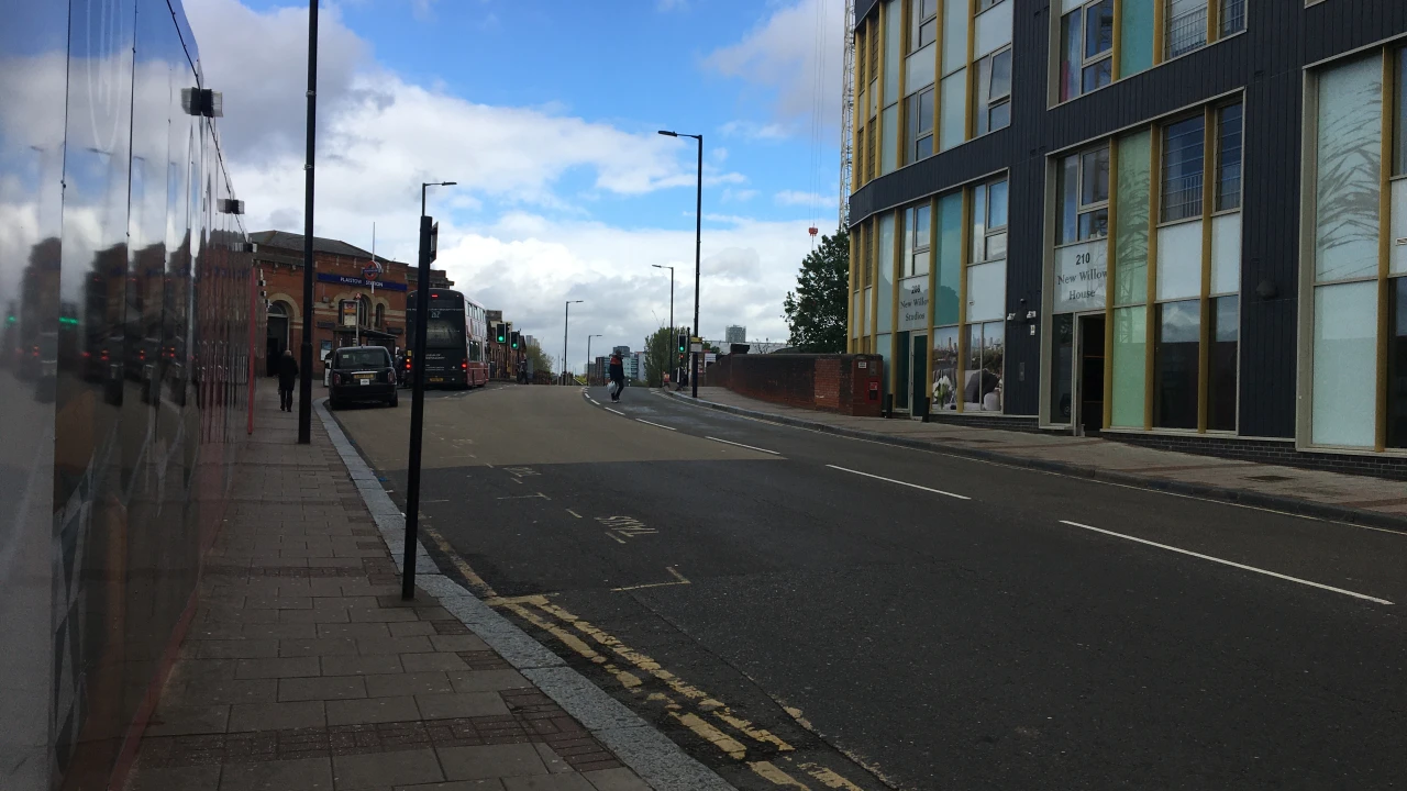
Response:
[[[421,360],[414,359],[415,322],[419,321],[411,291],[405,298],[405,383]],[[488,319],[484,305],[449,289],[431,289],[425,325],[425,387],[469,388],[488,383]]]

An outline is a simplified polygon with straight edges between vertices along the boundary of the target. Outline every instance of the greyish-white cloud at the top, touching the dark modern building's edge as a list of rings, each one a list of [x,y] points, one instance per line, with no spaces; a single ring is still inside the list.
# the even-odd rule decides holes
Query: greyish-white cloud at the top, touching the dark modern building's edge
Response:
[[[737,44],[713,51],[704,65],[770,91],[772,113],[789,128],[840,127],[844,3],[799,0],[772,11]]]

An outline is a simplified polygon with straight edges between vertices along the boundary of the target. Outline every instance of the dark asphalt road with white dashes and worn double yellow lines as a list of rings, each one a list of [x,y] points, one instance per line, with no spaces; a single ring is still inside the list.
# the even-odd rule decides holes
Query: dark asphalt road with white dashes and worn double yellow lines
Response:
[[[1407,785],[1407,535],[643,388],[426,404],[432,555],[740,788]],[[408,415],[338,412],[402,502]]]

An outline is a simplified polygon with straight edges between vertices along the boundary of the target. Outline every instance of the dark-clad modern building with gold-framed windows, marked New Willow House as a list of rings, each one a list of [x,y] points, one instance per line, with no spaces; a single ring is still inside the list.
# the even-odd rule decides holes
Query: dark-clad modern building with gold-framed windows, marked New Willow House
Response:
[[[896,410],[1407,472],[1407,3],[857,0]]]

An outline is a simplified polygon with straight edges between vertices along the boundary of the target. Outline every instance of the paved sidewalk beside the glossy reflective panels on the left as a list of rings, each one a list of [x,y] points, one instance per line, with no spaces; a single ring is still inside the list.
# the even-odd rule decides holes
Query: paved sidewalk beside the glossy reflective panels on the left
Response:
[[[257,405],[129,791],[650,788],[439,600],[402,602],[318,414],[300,446]]]

